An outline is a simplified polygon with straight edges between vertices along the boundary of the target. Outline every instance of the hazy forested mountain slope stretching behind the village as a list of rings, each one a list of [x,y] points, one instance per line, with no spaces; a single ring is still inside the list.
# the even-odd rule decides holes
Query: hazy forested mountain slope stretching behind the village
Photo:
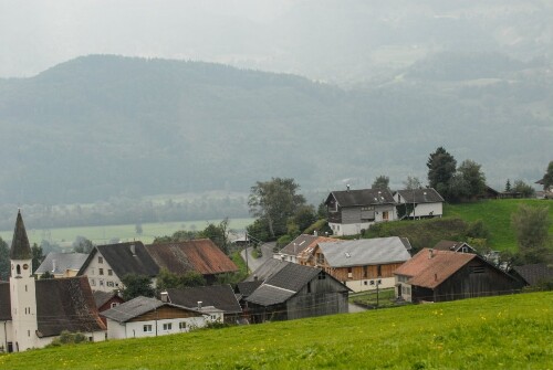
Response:
[[[441,57],[427,66],[450,60]],[[426,159],[441,145],[458,161],[482,163],[492,183],[541,175],[553,141],[551,64],[513,62],[491,81],[444,81],[424,63],[349,91],[112,55],[0,80],[0,201],[248,191],[278,176],[304,189],[346,178],[366,187],[378,175],[400,184],[407,175],[426,180]]]

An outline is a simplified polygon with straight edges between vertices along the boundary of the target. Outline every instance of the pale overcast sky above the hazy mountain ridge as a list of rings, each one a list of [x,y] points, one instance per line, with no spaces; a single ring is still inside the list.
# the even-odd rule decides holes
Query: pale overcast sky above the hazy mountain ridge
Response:
[[[357,82],[442,50],[551,54],[552,13],[540,0],[0,0],[0,77],[117,54]]]

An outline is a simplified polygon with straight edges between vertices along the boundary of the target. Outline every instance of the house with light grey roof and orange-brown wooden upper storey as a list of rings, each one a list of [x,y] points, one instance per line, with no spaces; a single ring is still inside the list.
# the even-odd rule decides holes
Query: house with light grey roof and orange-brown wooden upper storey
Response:
[[[394,271],[410,258],[410,250],[398,236],[322,242],[302,263],[323,268],[354,292],[392,288]]]

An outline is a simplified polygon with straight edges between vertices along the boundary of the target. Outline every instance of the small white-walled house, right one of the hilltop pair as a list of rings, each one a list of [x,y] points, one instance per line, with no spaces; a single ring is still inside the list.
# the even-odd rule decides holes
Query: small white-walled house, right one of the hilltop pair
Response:
[[[444,198],[432,188],[394,192],[399,219],[428,219],[444,215]]]

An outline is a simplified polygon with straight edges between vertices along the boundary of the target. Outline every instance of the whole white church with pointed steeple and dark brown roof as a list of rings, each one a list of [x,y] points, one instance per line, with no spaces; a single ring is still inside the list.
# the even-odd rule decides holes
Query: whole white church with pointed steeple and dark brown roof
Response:
[[[32,252],[21,212],[18,212],[10,250],[9,283],[0,283],[0,351],[42,348],[62,331],[82,332],[90,341],[105,340],[85,277],[36,281]]]

